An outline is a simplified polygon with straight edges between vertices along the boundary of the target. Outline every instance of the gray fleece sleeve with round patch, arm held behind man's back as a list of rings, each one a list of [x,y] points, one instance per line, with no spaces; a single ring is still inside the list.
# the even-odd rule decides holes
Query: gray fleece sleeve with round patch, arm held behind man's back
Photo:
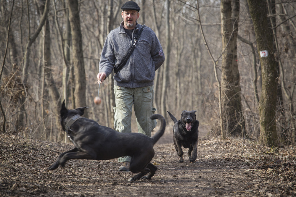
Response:
[[[154,33],[154,32],[153,32]],[[165,55],[163,53],[163,48],[154,33],[153,42],[152,42],[152,49],[151,49],[151,57],[155,64],[155,70],[159,69],[159,67],[165,61]]]

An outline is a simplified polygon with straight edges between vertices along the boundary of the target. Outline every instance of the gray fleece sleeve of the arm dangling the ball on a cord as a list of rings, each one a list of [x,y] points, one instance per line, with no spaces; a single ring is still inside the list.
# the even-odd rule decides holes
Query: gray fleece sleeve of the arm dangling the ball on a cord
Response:
[[[115,55],[114,55],[114,47],[112,46],[112,42],[110,39],[110,34],[107,36],[99,62],[99,72],[105,72],[106,77],[108,77],[114,68],[115,65]]]

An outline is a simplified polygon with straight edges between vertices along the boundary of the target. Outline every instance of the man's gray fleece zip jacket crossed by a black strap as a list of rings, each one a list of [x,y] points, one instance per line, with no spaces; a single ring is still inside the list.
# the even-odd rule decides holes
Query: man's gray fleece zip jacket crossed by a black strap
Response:
[[[133,38],[138,34],[141,25],[133,30]],[[111,74],[118,66],[131,46],[132,41],[124,31],[123,22],[108,34],[101,54],[99,72]],[[127,88],[141,88],[153,85],[155,70],[164,62],[165,56],[154,31],[144,27],[136,47],[123,68],[114,75],[114,85]]]

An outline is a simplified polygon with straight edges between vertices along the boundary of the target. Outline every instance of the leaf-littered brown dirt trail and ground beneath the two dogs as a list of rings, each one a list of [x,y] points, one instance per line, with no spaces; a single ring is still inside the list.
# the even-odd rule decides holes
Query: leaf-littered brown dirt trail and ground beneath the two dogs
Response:
[[[26,142],[17,136],[0,135],[0,196],[296,195],[295,164],[285,168],[282,176],[279,168],[264,168],[241,140],[221,142],[216,138],[199,141],[195,163],[185,154],[184,163],[178,163],[171,132],[167,129],[155,145],[155,176],[133,183],[127,181],[131,172],[118,172],[117,159],[73,159],[65,168],[48,171],[60,153],[73,148],[72,144]],[[205,133],[201,126],[200,139]]]

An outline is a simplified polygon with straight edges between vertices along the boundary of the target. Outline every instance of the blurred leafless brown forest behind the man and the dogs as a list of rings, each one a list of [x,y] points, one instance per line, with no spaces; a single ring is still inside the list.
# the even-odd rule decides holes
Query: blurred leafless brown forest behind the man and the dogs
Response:
[[[69,109],[88,106],[86,117],[113,127],[113,79],[108,77],[100,86],[102,104],[95,105],[96,75],[105,38],[122,21],[124,2],[0,0],[1,133],[64,141],[59,124],[64,99]],[[264,62],[257,43],[260,36],[256,40],[258,24],[250,12],[252,1],[136,3],[141,8],[138,22],[155,31],[166,58],[156,72],[156,113],[170,121],[166,111],[179,119],[183,110],[197,110],[200,124],[208,125],[212,134],[259,139],[260,99],[269,92],[262,91]],[[266,10],[267,20],[259,27],[267,23],[272,33],[261,38],[272,43],[268,57],[276,62],[272,79],[277,92],[270,93],[276,100],[276,106],[270,102],[273,113],[263,111],[272,116],[278,143],[293,144],[296,1],[267,0],[260,6],[257,11]],[[234,90],[231,96],[229,90]],[[232,98],[238,108],[229,106]],[[132,124],[136,127],[136,122]]]

